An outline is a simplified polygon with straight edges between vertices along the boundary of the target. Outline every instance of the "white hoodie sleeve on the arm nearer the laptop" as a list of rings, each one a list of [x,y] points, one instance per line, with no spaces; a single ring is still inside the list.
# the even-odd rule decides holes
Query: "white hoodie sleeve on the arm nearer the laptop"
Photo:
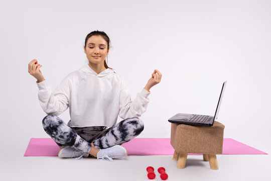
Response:
[[[140,117],[147,110],[149,104],[148,96],[150,94],[143,88],[141,93],[137,94],[137,98],[132,101],[129,87],[121,79],[119,117],[122,119]]]

